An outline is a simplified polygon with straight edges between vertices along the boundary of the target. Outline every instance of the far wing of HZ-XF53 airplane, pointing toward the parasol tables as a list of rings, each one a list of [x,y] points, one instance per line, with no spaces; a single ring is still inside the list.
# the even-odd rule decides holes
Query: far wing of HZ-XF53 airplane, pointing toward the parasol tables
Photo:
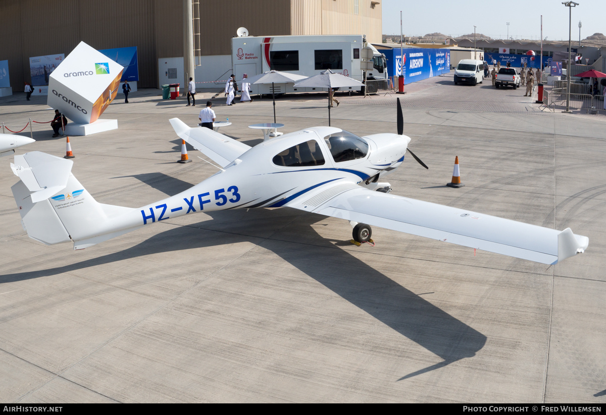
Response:
[[[221,167],[227,166],[250,149],[250,146],[210,128],[191,128],[178,118],[170,119],[170,124],[179,137]]]

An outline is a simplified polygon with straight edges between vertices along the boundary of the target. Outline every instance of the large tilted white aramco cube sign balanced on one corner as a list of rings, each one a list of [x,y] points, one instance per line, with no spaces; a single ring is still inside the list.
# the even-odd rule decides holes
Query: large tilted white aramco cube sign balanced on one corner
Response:
[[[95,122],[118,94],[124,67],[84,42],[50,74],[47,105],[76,123]]]

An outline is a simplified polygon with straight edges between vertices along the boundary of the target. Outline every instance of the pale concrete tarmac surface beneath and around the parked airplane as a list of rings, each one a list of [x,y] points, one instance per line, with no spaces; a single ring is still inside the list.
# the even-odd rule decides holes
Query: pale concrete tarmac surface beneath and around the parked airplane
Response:
[[[606,117],[551,113],[525,88],[402,96],[412,158],[398,195],[586,235],[556,266],[293,209],[187,215],[85,250],[28,238],[0,159],[0,402],[606,402]],[[198,105],[120,95],[119,129],[71,137],[72,172],[101,203],[138,208],[216,172],[168,123]],[[221,132],[255,145],[271,100],[227,108]],[[396,131],[395,94],[336,96],[333,126]],[[282,132],[327,124],[325,94],[276,102]],[[0,99],[0,121],[48,121],[45,97]],[[22,134],[29,131],[29,126]],[[29,135],[29,134],[27,134]],[[65,155],[47,124],[17,152]],[[445,186],[459,156],[464,188]],[[201,155],[202,156],[202,155]],[[204,157],[204,156],[202,156]]]

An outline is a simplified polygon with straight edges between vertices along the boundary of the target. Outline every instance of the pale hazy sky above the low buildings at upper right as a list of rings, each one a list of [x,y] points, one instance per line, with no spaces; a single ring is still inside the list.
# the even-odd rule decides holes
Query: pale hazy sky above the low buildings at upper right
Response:
[[[568,7],[562,0],[380,0],[383,12],[383,34],[422,36],[444,33],[453,38],[462,34],[482,33],[491,38],[568,40]],[[571,38],[579,41],[596,32],[606,34],[606,0],[575,0],[572,8]],[[507,27],[509,22],[509,27]]]

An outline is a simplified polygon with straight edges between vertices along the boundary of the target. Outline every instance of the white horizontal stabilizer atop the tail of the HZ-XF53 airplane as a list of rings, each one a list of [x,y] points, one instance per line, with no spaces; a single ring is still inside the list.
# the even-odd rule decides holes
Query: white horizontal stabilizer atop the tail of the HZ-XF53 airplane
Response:
[[[15,164],[11,163],[10,166],[32,192],[32,202],[36,203],[65,189],[73,162],[55,155],[32,151],[15,155]]]

